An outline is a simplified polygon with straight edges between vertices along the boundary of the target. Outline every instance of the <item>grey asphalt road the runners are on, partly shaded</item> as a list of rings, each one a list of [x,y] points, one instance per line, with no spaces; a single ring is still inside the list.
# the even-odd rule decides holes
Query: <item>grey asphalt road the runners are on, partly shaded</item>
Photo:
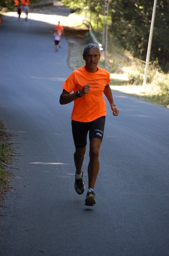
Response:
[[[120,113],[107,103],[97,204],[86,207],[74,191],[73,105],[59,105],[68,43],[54,52],[52,29],[0,26],[0,120],[16,151],[0,256],[169,256],[169,110],[113,92]],[[86,184],[88,160],[87,149]]]

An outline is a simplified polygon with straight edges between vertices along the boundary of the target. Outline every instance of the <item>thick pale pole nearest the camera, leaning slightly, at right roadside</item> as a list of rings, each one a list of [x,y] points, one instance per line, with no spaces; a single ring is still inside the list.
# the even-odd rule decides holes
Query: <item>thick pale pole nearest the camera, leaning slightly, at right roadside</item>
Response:
[[[146,79],[147,79],[149,56],[150,56],[150,51],[151,51],[151,46],[152,46],[152,34],[153,34],[154,21],[155,21],[156,5],[157,5],[157,0],[154,0],[154,6],[153,6],[153,11],[152,11],[152,22],[151,22],[151,27],[150,27],[150,32],[149,32],[149,43],[148,43],[148,49],[147,49],[147,55],[146,55],[146,66],[145,66],[145,72],[144,72],[143,85],[146,85]]]

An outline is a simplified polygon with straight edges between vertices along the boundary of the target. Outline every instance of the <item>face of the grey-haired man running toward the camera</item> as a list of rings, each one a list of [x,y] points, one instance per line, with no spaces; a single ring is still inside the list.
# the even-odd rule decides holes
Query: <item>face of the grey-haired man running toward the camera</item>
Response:
[[[83,54],[83,59],[85,60],[85,68],[88,72],[96,72],[98,70],[97,65],[99,63],[100,54],[99,50],[96,48],[91,48],[87,50],[85,55]]]

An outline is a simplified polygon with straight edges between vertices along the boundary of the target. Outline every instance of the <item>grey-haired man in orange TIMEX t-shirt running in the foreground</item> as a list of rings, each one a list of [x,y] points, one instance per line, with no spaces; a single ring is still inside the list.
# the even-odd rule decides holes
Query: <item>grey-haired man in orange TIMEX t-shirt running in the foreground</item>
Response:
[[[74,162],[75,190],[82,195],[85,190],[82,164],[87,145],[87,133],[90,139],[90,161],[88,164],[88,191],[85,205],[96,204],[94,186],[99,172],[99,149],[104,134],[106,117],[106,103],[103,93],[107,97],[114,116],[118,116],[112,91],[110,89],[110,73],[98,67],[100,49],[96,44],[88,44],[83,52],[85,66],[74,70],[65,83],[60,96],[60,104],[74,101],[72,119],[72,133],[75,144]],[[73,91],[73,93],[72,93]]]

